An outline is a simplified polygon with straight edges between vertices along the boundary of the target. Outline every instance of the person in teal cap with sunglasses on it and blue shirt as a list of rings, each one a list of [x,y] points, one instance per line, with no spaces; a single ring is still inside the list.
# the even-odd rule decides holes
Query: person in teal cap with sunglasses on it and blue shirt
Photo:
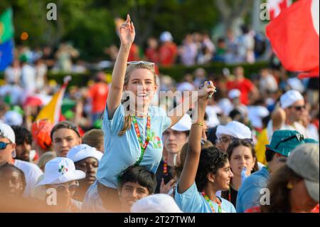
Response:
[[[247,177],[240,186],[236,204],[238,213],[261,205],[260,196],[264,194],[270,176],[284,166],[295,147],[304,143],[304,136],[294,130],[277,130],[272,134],[270,144],[265,146],[267,165]]]

